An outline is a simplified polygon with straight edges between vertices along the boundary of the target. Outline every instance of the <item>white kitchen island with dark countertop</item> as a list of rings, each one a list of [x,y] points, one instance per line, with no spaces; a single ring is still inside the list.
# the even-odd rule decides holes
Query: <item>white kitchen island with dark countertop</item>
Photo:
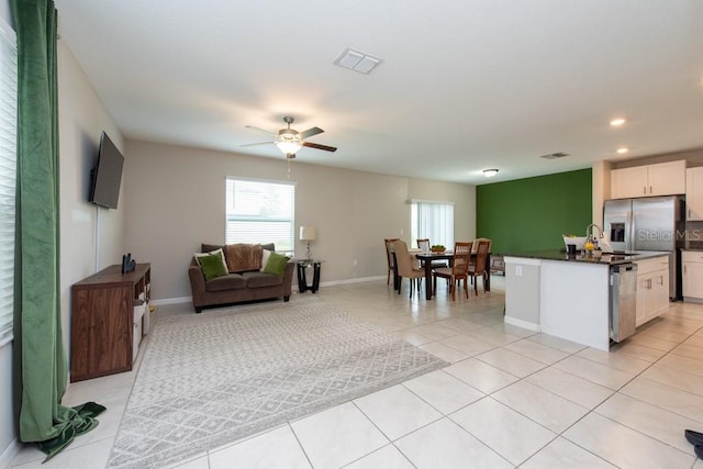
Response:
[[[666,264],[668,269],[669,253],[603,254],[596,257],[569,255],[555,249],[509,254],[504,259],[506,324],[609,350],[611,268],[658,259],[661,263],[655,263]],[[666,284],[668,302],[668,277],[660,283],[662,288]],[[641,315],[645,292],[651,286],[651,281],[637,286],[638,315]],[[661,305],[656,311],[661,311]]]

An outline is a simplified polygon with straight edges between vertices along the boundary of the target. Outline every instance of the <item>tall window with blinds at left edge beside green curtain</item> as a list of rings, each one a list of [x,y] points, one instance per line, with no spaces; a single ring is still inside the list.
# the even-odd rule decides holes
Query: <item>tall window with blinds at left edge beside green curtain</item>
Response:
[[[0,346],[12,340],[16,123],[16,40],[0,19]]]

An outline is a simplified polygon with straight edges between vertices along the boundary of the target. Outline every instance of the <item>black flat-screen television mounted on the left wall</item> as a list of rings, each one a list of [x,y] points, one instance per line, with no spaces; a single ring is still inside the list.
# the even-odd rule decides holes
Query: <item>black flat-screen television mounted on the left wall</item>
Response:
[[[108,209],[118,208],[124,157],[108,134],[100,135],[98,165],[91,171],[89,202]]]

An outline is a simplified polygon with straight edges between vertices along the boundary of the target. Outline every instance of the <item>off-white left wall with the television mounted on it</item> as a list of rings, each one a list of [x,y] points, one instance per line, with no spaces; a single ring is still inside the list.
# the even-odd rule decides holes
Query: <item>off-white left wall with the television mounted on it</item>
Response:
[[[0,14],[9,22],[9,2],[2,0]],[[122,135],[102,105],[68,45],[58,42],[59,152],[60,152],[60,304],[66,355],[70,346],[70,286],[99,267],[118,264],[123,253],[124,203],[120,210],[100,209],[101,228],[96,233],[98,209],[87,202],[90,168],[97,157],[100,132],[105,130],[115,145]],[[126,161],[129,165],[129,161]],[[99,241],[99,242],[98,242]],[[15,439],[12,417],[12,347],[0,348],[0,467],[11,457]],[[99,397],[96,397],[99,400]],[[4,454],[3,454],[4,453]]]

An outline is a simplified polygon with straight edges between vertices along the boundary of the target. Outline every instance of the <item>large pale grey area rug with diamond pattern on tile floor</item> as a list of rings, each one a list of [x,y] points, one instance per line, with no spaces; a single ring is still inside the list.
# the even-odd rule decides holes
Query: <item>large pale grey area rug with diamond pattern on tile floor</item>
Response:
[[[446,365],[317,298],[159,317],[108,467],[163,467]]]

